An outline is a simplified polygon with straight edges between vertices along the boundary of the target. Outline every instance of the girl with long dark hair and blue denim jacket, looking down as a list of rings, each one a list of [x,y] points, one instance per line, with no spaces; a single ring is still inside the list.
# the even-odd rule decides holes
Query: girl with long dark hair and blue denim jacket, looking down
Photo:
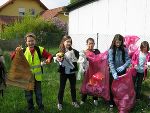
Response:
[[[118,76],[125,74],[126,69],[130,65],[128,51],[124,46],[124,38],[120,34],[116,34],[108,50],[108,63],[110,68],[110,110],[114,106],[111,85],[113,80],[118,80]]]

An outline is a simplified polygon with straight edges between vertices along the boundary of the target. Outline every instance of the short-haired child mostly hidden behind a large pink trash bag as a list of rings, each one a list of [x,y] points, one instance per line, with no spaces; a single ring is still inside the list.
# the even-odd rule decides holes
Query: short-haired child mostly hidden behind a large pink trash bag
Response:
[[[86,53],[88,54],[89,52],[92,52],[95,55],[97,55],[97,54],[100,53],[100,51],[98,49],[94,49],[95,42],[94,42],[93,38],[88,38],[86,40],[86,44],[87,44],[87,50],[85,51],[85,54]],[[88,56],[87,56],[87,59],[88,59]],[[90,66],[90,61],[89,61],[89,66]],[[81,105],[84,104],[84,102],[87,99],[87,94],[84,92],[84,89],[85,89],[85,84],[89,81],[89,78],[91,76],[92,75],[89,75],[88,71],[84,73],[84,80],[83,80],[83,83],[82,83],[82,86],[81,86],[81,93],[82,93],[81,102],[80,102]],[[94,102],[95,106],[98,106],[98,97],[93,96],[93,102]]]

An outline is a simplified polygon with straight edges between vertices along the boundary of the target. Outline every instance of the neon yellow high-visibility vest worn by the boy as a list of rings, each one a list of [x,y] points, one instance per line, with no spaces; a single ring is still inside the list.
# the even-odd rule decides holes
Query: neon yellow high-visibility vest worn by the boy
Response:
[[[39,46],[39,49],[40,49],[40,53],[42,54],[44,48]],[[35,75],[35,79],[37,81],[41,81],[42,80],[41,61],[39,59],[37,51],[36,50],[34,51],[34,57],[32,58],[29,47],[27,47],[26,51],[24,52],[24,55],[31,67],[31,71],[33,75]]]

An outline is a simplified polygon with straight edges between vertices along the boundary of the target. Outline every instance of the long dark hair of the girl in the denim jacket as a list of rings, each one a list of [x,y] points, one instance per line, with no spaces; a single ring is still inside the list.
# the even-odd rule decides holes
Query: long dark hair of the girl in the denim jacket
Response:
[[[120,45],[119,49],[122,51],[122,60],[123,60],[123,62],[125,62],[124,37],[122,35],[120,35],[120,34],[116,34],[114,36],[114,39],[113,39],[112,44],[110,46],[110,49],[113,50],[113,61],[115,62],[115,55],[116,55],[116,49],[117,49],[117,47],[115,45],[116,40],[121,41],[121,45]]]

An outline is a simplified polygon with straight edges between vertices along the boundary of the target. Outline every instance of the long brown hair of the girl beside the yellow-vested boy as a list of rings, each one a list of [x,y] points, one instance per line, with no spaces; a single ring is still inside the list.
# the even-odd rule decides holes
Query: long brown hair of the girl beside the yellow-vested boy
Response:
[[[65,42],[66,40],[68,40],[68,39],[71,39],[71,37],[68,36],[68,35],[63,36],[63,38],[62,38],[62,40],[61,40],[61,42],[60,42],[60,45],[59,45],[59,51],[60,51],[60,52],[65,53],[64,42]],[[71,44],[72,44],[72,39],[71,39]],[[72,47],[69,48],[69,50],[71,50],[71,49],[72,49]]]

